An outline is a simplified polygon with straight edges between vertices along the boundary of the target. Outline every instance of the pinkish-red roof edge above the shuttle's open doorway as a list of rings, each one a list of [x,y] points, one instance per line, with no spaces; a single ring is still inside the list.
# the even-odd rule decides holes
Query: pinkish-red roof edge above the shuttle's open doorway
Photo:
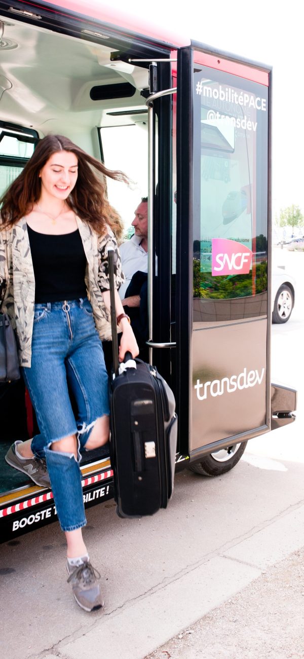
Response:
[[[25,2],[24,4],[31,5],[32,7],[39,7],[39,3]],[[49,4],[49,7],[46,5],[45,9],[49,9],[50,11],[58,13],[60,9],[67,9],[74,14],[89,16],[94,20],[97,19],[105,24],[110,24],[111,27],[118,29],[122,28],[134,32],[135,34],[140,34],[141,36],[147,36],[147,38],[153,38],[153,40],[160,44],[163,43],[166,45],[182,47],[190,45],[191,43],[189,38],[182,36],[182,34],[178,32],[173,32],[170,28],[163,28],[163,26],[159,24],[155,25],[142,20],[136,15],[132,16],[123,11],[118,11],[115,7],[106,7],[105,5],[102,5],[99,0],[60,0],[60,2],[47,4]],[[100,26],[95,24],[96,32],[99,32],[99,29]]]

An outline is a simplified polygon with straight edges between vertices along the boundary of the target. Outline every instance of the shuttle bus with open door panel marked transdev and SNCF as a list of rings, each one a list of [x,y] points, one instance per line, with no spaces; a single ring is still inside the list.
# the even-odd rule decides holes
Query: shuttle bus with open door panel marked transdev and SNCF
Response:
[[[270,382],[270,109],[269,67],[114,3],[0,0],[0,193],[59,133],[134,181],[108,184],[126,230],[149,198],[147,345],[176,397],[176,469],[225,473],[294,418]],[[3,541],[57,516],[4,460],[38,432],[22,380],[0,384],[0,420]],[[107,447],[81,469],[86,507],[113,496]]]

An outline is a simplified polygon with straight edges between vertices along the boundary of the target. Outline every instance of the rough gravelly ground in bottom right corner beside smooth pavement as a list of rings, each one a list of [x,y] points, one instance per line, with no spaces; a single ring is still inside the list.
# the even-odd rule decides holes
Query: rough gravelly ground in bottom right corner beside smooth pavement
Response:
[[[304,548],[145,659],[304,657]]]

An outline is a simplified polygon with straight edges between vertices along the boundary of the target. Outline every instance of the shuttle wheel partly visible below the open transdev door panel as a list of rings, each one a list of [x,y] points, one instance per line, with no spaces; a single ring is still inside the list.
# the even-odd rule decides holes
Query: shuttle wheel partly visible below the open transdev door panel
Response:
[[[220,476],[220,474],[226,474],[226,471],[230,471],[230,469],[236,466],[245,451],[246,445],[247,442],[243,442],[242,444],[234,444],[233,446],[228,446],[226,449],[220,449],[219,451],[210,453],[203,457],[200,462],[195,463],[195,465],[189,465],[188,469],[194,471],[195,474],[201,474],[201,476]]]

